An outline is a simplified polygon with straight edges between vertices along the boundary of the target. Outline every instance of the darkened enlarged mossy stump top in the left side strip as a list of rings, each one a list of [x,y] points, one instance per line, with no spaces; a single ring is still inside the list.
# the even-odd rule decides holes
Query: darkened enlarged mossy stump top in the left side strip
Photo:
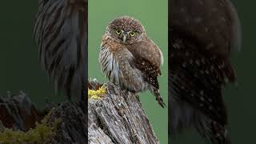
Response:
[[[0,143],[86,143],[86,104],[63,102],[38,110],[24,93],[0,98]]]

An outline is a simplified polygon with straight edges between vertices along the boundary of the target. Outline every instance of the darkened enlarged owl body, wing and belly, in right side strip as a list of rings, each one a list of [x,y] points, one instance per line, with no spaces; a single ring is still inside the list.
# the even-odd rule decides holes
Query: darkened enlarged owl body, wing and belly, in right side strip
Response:
[[[236,79],[230,52],[241,46],[238,14],[229,0],[169,6],[170,135],[195,128],[208,142],[229,144],[222,88]]]

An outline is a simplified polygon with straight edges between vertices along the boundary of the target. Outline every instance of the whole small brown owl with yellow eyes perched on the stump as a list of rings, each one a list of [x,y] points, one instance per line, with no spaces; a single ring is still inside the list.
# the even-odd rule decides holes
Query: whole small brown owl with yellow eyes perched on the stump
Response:
[[[150,90],[160,106],[166,106],[158,84],[162,51],[147,38],[138,20],[124,16],[110,22],[102,36],[99,63],[106,78],[122,90],[132,93]]]

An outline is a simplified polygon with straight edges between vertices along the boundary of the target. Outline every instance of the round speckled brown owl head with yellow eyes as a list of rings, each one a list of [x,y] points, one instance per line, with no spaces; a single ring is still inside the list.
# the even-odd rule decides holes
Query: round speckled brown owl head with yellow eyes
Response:
[[[115,18],[106,27],[106,34],[116,42],[130,44],[146,38],[146,31],[137,19],[124,16]]]

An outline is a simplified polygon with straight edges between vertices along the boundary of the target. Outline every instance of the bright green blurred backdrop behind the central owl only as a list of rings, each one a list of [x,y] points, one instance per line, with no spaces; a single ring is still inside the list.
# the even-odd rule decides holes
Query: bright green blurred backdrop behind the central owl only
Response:
[[[114,18],[128,15],[137,18],[145,26],[146,33],[162,50],[164,54],[164,65],[162,66],[162,77],[160,92],[164,102],[168,102],[167,87],[167,54],[168,54],[168,6],[167,0],[89,0],[89,73],[88,78],[97,78],[100,82],[108,81],[104,78],[98,64],[98,52],[105,33],[106,26]],[[155,101],[150,92],[139,94],[142,106],[146,110],[155,134],[161,143],[168,141],[168,110],[162,109]],[[168,107],[168,106],[167,106]]]

